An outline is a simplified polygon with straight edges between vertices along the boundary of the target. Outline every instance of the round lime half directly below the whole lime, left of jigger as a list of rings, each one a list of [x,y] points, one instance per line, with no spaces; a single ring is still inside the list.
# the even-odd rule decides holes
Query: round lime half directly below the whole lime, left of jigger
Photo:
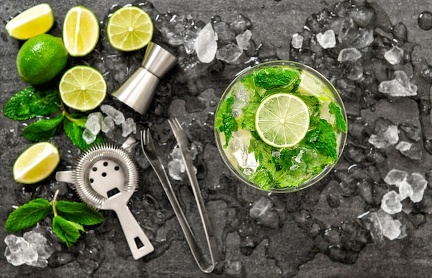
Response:
[[[63,103],[79,111],[97,108],[106,97],[106,81],[89,66],[75,66],[61,77],[59,91]]]

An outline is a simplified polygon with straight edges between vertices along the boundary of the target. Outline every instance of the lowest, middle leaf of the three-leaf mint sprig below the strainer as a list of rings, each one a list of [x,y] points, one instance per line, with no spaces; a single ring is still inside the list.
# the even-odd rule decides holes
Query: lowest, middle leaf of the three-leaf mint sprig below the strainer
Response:
[[[57,215],[52,218],[52,231],[70,248],[81,237],[80,231],[84,232],[84,227]]]

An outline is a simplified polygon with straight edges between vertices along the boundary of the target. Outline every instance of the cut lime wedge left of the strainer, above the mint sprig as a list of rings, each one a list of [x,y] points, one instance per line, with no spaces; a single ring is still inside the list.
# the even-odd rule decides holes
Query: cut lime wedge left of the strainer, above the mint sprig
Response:
[[[35,143],[17,158],[12,168],[14,180],[19,183],[37,183],[46,179],[59,165],[60,155],[49,142]]]

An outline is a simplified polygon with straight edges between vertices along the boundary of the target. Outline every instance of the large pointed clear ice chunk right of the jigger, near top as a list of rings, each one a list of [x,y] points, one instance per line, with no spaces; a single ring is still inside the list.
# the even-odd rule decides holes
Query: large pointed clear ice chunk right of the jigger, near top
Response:
[[[210,63],[215,59],[217,52],[217,34],[211,22],[207,23],[199,32],[195,40],[195,52],[202,63]]]

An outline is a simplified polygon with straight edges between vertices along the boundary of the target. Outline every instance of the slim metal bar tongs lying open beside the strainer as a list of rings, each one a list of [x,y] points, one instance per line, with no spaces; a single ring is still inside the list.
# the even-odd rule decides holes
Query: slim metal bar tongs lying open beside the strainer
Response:
[[[186,219],[183,210],[181,210],[179,201],[177,200],[177,197],[173,190],[173,186],[171,186],[168,175],[166,174],[164,164],[161,162],[161,159],[157,154],[155,144],[153,143],[153,139],[149,129],[146,129],[143,132],[141,132],[141,148],[144,152],[144,155],[150,162],[150,165],[152,166],[153,170],[155,170],[156,175],[159,178],[162,187],[164,188],[166,196],[168,197],[168,200],[171,203],[171,206],[173,206],[173,210],[175,212],[175,215],[177,216],[177,219],[181,226],[181,230],[183,230],[184,235],[186,236],[186,241],[188,242],[190,251],[192,252],[195,261],[197,262],[202,272],[210,273],[215,269],[215,265],[219,260],[216,238],[215,235],[213,234],[213,229],[210,226],[210,221],[208,219],[206,208],[204,206],[204,201],[202,199],[202,195],[199,190],[197,177],[195,175],[195,172],[193,171],[193,163],[192,163],[192,159],[190,158],[189,150],[187,147],[188,139],[186,137],[186,133],[181,128],[177,119],[174,119],[174,121],[168,120],[168,122],[170,123],[171,129],[173,130],[175,135],[175,139],[179,144],[179,148],[181,150],[181,157],[184,160],[190,185],[192,186],[193,189],[193,195],[195,197],[195,201],[197,203],[197,207],[199,210],[199,217],[201,218],[202,226],[204,228],[204,233],[206,235],[206,241],[207,241],[207,246],[208,246],[210,260],[211,260],[210,263],[204,257],[202,248],[199,247],[199,244],[197,243],[197,239],[195,238],[195,235],[193,234],[193,231],[190,228],[188,220]]]

